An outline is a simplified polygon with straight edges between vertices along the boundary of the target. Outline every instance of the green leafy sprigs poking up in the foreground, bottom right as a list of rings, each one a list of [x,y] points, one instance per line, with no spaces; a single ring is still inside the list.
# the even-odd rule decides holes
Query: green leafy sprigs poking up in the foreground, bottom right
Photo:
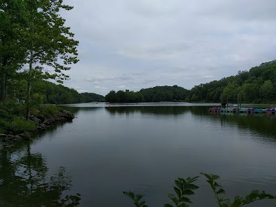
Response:
[[[218,175],[206,174],[203,172],[201,172],[200,174],[204,175],[204,177],[207,178],[206,181],[212,188],[219,207],[240,207],[262,199],[276,199],[276,196],[267,194],[264,190],[262,192],[260,192],[259,190],[253,190],[245,197],[237,195],[233,199],[233,202],[231,202],[230,199],[221,197],[221,195],[224,195],[226,192],[224,188],[222,188],[222,186],[217,183],[217,180],[220,179]],[[195,181],[197,181],[198,177],[188,177],[187,179],[178,178],[175,180],[174,190],[176,195],[168,194],[168,198],[170,199],[170,201],[173,202],[173,205],[175,205],[176,207],[188,207],[189,204],[193,204],[193,202],[190,201],[187,196],[194,195],[194,190],[197,190],[197,188],[199,188],[199,186],[193,184]],[[132,199],[136,207],[146,207],[146,201],[139,202],[139,200],[144,195],[135,195],[135,193],[132,193],[130,191],[124,192],[124,195]],[[174,207],[173,205],[165,204],[164,207]]]

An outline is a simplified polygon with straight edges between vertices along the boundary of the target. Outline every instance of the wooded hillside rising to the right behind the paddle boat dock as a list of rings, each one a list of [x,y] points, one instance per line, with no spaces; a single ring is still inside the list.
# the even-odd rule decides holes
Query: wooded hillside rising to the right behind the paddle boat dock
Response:
[[[193,102],[237,102],[240,94],[243,103],[275,103],[276,101],[276,61],[262,63],[249,71],[239,71],[237,75],[219,81],[199,84],[193,87],[186,101]]]

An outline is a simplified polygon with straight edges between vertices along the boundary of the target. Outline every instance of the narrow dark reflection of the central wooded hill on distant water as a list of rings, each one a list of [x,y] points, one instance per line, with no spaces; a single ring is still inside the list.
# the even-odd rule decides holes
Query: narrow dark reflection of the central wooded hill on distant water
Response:
[[[141,113],[148,115],[182,115],[189,111],[186,106],[126,106],[106,108],[111,115]]]

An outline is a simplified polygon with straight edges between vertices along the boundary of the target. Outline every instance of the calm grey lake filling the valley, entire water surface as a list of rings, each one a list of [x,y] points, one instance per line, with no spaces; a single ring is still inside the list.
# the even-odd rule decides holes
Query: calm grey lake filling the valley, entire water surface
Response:
[[[148,206],[170,203],[174,179],[219,175],[226,196],[266,190],[276,195],[276,118],[216,115],[216,104],[81,103],[62,106],[72,122],[0,150],[0,206]],[[191,206],[216,206],[199,177]],[[248,206],[276,206],[259,201]]]

